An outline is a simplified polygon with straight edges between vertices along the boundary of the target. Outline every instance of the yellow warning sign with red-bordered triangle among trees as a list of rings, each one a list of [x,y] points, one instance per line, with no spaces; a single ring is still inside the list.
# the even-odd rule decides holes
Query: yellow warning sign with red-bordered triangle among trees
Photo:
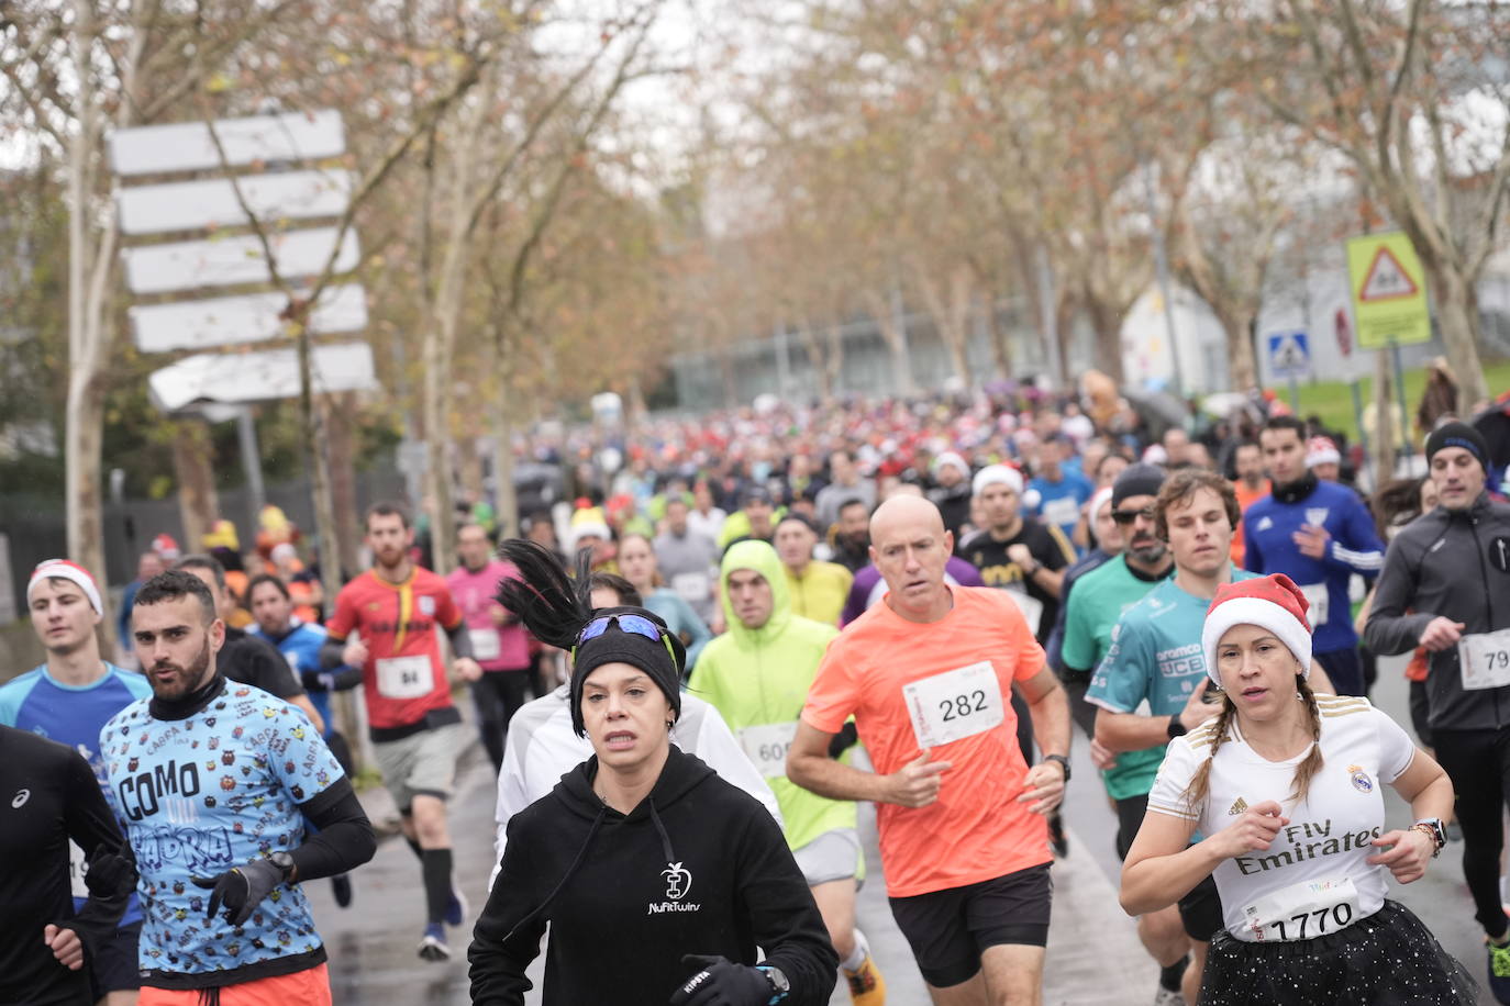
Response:
[[[1347,243],[1348,290],[1357,345],[1365,350],[1431,339],[1421,259],[1403,231],[1365,234]]]

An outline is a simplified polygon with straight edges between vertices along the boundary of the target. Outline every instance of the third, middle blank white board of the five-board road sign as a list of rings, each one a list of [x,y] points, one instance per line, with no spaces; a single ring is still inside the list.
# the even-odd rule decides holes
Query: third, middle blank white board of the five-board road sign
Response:
[[[272,235],[270,244],[284,278],[313,276],[325,265],[335,247],[335,228],[311,228]],[[128,247],[125,285],[134,294],[166,294],[177,290],[222,287],[230,284],[264,284],[272,279],[263,261],[263,246],[254,235],[222,237],[208,241],[174,241]],[[361,256],[356,231],[341,240],[335,271],[356,268]]]

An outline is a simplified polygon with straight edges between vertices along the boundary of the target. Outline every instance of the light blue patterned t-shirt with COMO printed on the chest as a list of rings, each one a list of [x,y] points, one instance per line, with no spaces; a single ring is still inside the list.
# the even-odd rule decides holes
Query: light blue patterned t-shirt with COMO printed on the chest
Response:
[[[273,888],[243,926],[205,920],[211,878],[304,840],[299,804],[341,778],[314,725],[260,688],[228,682],[187,719],[127,706],[100,735],[107,796],[125,822],[146,920],[143,971],[202,974],[322,949],[297,884]]]

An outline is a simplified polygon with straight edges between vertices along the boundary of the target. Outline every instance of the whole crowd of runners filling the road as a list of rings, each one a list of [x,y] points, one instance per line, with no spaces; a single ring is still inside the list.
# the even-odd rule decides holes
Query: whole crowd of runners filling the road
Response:
[[[1339,437],[1262,398],[1164,425],[978,395],[547,430],[525,449],[572,502],[498,540],[474,501],[448,543],[376,504],[335,597],[276,508],[246,555],[228,522],[202,554],[159,538],[119,653],[95,576],[42,563],[47,659],[0,686],[0,1003],[331,1003],[300,885],[361,897],[362,747],[415,854],[417,955],[465,952],[474,1003],[524,1003],[545,938],[545,1003],[879,1006],[868,873],[935,1003],[1039,1003],[1075,733],[1160,974],[1116,1001],[1510,1003],[1484,437],[1441,416],[1427,475],[1364,496]],[[1400,653],[1410,731],[1367,698]],[[473,728],[477,911],[448,816]],[[1450,833],[1474,968],[1386,896]]]

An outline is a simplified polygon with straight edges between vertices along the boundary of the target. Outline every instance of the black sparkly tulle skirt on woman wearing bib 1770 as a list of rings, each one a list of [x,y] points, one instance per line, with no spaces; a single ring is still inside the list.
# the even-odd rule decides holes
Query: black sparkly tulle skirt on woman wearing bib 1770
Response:
[[[1478,985],[1404,905],[1294,943],[1211,938],[1199,1006],[1474,1006]]]

